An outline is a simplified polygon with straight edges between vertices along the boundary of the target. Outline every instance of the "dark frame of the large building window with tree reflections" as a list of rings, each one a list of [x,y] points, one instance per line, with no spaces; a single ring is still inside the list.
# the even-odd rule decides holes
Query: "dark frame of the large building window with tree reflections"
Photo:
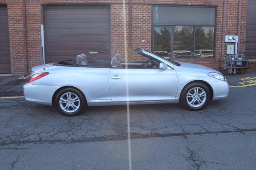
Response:
[[[173,59],[173,27],[174,26],[193,26],[193,55],[191,58],[180,58],[180,59],[200,59],[200,60],[212,60],[215,59],[216,56],[216,26],[217,26],[217,6],[186,6],[186,5],[152,5],[152,8],[154,6],[169,6],[169,7],[185,7],[185,8],[215,8],[215,24],[214,25],[193,25],[193,24],[184,24],[184,25],[169,25],[169,24],[153,24],[153,17],[151,17],[151,51],[154,53],[154,28],[155,27],[169,27],[171,29],[171,37],[170,37],[170,59]],[[151,16],[153,16],[153,10],[151,10]],[[211,58],[195,58],[194,57],[194,51],[195,51],[195,39],[196,39],[196,34],[195,34],[195,27],[214,27],[214,47],[213,47],[213,57]]]

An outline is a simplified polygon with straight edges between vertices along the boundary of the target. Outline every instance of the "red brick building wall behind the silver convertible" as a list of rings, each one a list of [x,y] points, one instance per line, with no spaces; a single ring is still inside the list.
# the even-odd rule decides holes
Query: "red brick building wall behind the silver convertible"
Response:
[[[214,59],[179,59],[184,62],[198,63],[217,69],[222,46],[223,0],[132,0],[132,47],[151,50],[151,5],[200,5],[217,6],[216,51]],[[227,0],[226,35],[237,34],[238,0]],[[122,6],[122,0],[26,0],[26,20],[28,37],[28,67],[40,64],[41,24],[43,23],[42,4],[107,3],[111,4],[111,45],[113,54],[125,56],[124,22],[126,17],[126,44],[128,45],[128,0]],[[13,48],[14,75],[24,75],[24,50],[22,33],[22,0],[0,0],[8,6],[10,46]],[[247,0],[242,0],[240,52],[243,46],[243,34],[246,27]],[[124,9],[124,11],[123,11]],[[146,42],[140,42],[146,40]],[[128,47],[128,46],[127,46]],[[224,51],[226,52],[226,46]],[[138,55],[133,53],[132,59]]]

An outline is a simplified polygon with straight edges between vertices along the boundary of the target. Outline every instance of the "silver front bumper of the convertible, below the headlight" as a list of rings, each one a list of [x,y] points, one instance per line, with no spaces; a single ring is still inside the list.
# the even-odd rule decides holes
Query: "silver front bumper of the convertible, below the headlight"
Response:
[[[228,81],[208,82],[212,86],[213,98],[212,100],[219,100],[228,97]]]

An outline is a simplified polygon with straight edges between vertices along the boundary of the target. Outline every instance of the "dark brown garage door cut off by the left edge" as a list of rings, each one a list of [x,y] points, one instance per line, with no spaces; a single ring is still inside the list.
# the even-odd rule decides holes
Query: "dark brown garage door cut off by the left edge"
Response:
[[[11,73],[7,6],[0,5],[0,73]]]

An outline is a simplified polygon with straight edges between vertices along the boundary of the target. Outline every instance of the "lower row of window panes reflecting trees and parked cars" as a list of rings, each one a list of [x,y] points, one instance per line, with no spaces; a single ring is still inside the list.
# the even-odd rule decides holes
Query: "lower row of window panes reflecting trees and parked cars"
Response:
[[[174,59],[214,56],[213,26],[169,26],[153,30],[154,52],[166,59],[171,55]]]

